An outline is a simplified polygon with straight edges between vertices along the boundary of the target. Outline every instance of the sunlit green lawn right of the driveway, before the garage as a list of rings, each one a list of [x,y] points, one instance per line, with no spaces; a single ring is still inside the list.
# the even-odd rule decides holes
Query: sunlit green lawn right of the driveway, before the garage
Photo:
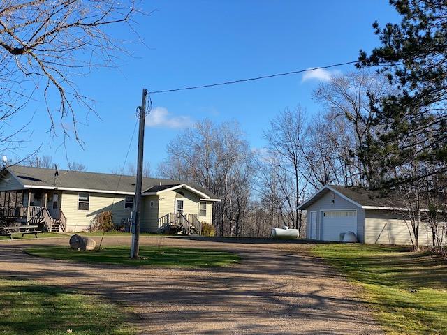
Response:
[[[314,253],[362,286],[387,334],[447,334],[445,258],[363,244],[321,244]]]

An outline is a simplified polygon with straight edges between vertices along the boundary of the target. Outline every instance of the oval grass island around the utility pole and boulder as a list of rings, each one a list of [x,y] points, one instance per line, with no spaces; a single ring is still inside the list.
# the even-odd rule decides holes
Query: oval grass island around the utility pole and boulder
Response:
[[[140,259],[129,258],[129,246],[105,246],[101,251],[75,251],[67,246],[36,246],[25,250],[30,255],[76,262],[158,267],[223,267],[240,262],[226,251],[197,248],[140,246]]]

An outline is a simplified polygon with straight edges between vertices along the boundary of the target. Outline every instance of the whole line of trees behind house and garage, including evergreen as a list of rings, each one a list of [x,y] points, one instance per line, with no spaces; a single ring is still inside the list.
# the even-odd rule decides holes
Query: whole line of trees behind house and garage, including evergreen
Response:
[[[219,195],[218,234],[263,236],[279,225],[302,230],[298,205],[321,186],[339,184],[390,199],[416,250],[423,222],[430,223],[434,249],[445,250],[447,1],[390,4],[402,22],[374,22],[381,46],[360,50],[356,70],[319,85],[318,114],[309,117],[298,106],[272,117],[259,151],[238,124],[210,120],[169,144],[161,173]]]

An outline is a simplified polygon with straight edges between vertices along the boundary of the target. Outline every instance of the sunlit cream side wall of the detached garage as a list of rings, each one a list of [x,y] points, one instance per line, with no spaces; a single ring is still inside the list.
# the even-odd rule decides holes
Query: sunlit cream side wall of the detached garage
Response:
[[[392,211],[367,209],[365,216],[365,243],[411,245],[411,223],[407,227],[402,215]],[[412,233],[411,233],[412,234]],[[432,244],[430,225],[419,228],[419,244]]]

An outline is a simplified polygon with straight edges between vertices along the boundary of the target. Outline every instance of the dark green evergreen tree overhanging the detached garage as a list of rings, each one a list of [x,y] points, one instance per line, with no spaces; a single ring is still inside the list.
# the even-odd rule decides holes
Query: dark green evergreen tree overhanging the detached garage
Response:
[[[360,50],[358,67],[381,65],[397,93],[374,103],[383,133],[376,154],[385,184],[413,183],[447,168],[447,1],[390,0],[400,24],[373,27],[381,46]],[[411,176],[396,170],[411,162],[425,168]],[[430,166],[430,168],[427,168]]]

